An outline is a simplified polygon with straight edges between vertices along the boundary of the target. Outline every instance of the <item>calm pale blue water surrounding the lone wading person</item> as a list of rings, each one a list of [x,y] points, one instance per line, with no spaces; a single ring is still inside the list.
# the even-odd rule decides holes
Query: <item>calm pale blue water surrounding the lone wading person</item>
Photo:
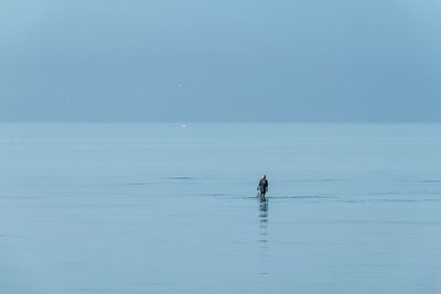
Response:
[[[0,124],[0,293],[440,293],[440,150],[439,124]]]

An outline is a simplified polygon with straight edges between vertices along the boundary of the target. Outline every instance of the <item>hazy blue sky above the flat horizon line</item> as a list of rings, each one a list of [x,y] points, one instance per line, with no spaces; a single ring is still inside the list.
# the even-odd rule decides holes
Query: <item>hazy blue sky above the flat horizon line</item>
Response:
[[[1,121],[441,121],[439,0],[0,0]]]

